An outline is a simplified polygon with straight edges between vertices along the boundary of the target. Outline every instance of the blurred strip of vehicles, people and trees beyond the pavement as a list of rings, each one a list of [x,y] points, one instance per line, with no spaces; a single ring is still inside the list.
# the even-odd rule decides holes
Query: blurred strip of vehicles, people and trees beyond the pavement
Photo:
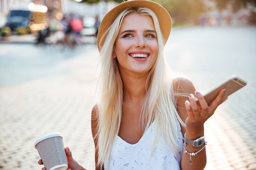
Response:
[[[97,35],[98,26],[122,0],[1,0],[0,41],[30,38],[37,43],[76,44]],[[156,0],[173,26],[239,26],[256,24],[255,0]],[[28,35],[31,36],[15,36]],[[94,37],[95,39],[95,37]],[[20,40],[22,41],[22,40]],[[25,40],[24,40],[25,41]]]

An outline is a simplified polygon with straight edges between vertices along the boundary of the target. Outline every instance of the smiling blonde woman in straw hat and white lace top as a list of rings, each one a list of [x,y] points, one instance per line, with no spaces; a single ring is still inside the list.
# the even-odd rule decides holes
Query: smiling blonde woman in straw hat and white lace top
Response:
[[[101,95],[92,109],[96,169],[204,169],[204,122],[225,89],[208,106],[191,81],[172,73],[163,54],[171,26],[168,12],[148,0],[124,2],[103,18]],[[84,169],[65,150],[69,168]]]

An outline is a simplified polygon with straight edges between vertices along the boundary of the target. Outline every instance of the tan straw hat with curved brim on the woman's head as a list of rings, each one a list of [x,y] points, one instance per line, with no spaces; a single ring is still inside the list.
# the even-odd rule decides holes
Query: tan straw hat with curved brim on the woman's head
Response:
[[[163,34],[163,38],[165,40],[164,42],[164,45],[165,45],[172,29],[172,20],[171,20],[170,14],[164,9],[164,7],[162,7],[160,4],[157,4],[155,2],[152,2],[149,0],[128,0],[126,2],[116,5],[102,19],[99,27],[98,37],[97,37],[97,45],[98,45],[99,51],[103,47],[106,39],[106,37],[103,37],[100,43],[100,39],[105,33],[105,31],[111,26],[111,24],[116,19],[117,15],[129,7],[145,7],[152,10],[156,14],[156,17],[158,18],[159,25]]]

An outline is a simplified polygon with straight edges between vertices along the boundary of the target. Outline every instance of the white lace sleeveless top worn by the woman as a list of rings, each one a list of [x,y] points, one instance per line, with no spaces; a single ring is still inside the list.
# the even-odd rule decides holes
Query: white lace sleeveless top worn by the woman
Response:
[[[180,123],[177,120],[177,123]],[[180,145],[179,154],[172,152],[169,145],[160,137],[155,150],[152,153],[154,144],[153,122],[141,137],[138,143],[129,144],[117,136],[116,143],[110,153],[109,167],[104,169],[169,169],[180,170],[180,160],[183,149],[182,133],[180,129],[179,138],[176,139]]]

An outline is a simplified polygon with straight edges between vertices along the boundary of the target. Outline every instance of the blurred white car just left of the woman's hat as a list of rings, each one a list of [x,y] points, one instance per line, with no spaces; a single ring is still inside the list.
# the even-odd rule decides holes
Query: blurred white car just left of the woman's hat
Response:
[[[92,36],[95,35],[96,31],[95,27],[95,19],[92,17],[84,17],[83,18],[83,26],[84,29],[82,30],[82,35],[84,36]]]

